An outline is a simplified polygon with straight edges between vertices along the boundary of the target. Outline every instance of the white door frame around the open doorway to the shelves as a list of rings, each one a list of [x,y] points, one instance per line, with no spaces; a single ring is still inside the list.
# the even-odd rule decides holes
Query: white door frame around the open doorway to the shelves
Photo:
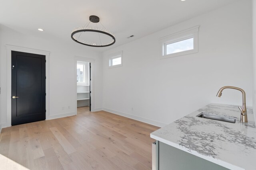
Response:
[[[77,61],[84,61],[84,62],[88,62],[91,63],[91,111],[94,111],[94,59],[89,59],[86,57],[78,57],[75,56],[74,57],[74,85],[76,86],[75,89],[76,91],[74,92],[75,94],[77,94],[77,83],[76,83],[76,63]],[[77,108],[77,100],[75,100],[75,107]],[[75,109],[75,113],[77,114],[77,109]]]

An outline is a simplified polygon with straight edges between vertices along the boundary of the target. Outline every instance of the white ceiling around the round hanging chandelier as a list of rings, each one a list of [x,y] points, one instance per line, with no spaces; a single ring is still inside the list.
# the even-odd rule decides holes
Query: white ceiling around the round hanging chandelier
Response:
[[[0,24],[24,34],[52,37],[75,43],[74,27],[89,21],[90,15],[116,37],[110,47],[81,47],[105,51],[134,41],[176,23],[220,8],[235,0],[0,0]],[[42,28],[45,31],[38,31]],[[134,37],[127,39],[130,35]]]

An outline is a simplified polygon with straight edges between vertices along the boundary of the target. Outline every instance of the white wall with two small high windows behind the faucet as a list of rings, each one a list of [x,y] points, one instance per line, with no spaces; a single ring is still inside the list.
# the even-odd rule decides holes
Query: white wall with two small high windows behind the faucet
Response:
[[[160,37],[196,25],[198,53],[159,59]],[[217,98],[222,86],[243,88],[252,106],[251,41],[251,1],[239,1],[106,51],[103,108],[163,126],[209,103],[242,105],[236,90]],[[121,50],[123,66],[108,68],[107,55]]]

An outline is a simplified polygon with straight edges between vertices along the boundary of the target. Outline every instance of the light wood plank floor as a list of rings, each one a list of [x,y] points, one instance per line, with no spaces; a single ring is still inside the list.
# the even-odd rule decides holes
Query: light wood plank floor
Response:
[[[17,162],[35,170],[148,170],[154,142],[150,133],[156,129],[106,111],[78,107],[75,116],[2,129],[0,169],[17,169]]]

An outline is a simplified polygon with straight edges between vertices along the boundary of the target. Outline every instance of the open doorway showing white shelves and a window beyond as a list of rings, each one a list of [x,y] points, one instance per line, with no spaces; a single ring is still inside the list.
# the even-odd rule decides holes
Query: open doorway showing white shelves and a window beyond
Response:
[[[89,107],[91,111],[91,63],[76,61],[77,107]]]

